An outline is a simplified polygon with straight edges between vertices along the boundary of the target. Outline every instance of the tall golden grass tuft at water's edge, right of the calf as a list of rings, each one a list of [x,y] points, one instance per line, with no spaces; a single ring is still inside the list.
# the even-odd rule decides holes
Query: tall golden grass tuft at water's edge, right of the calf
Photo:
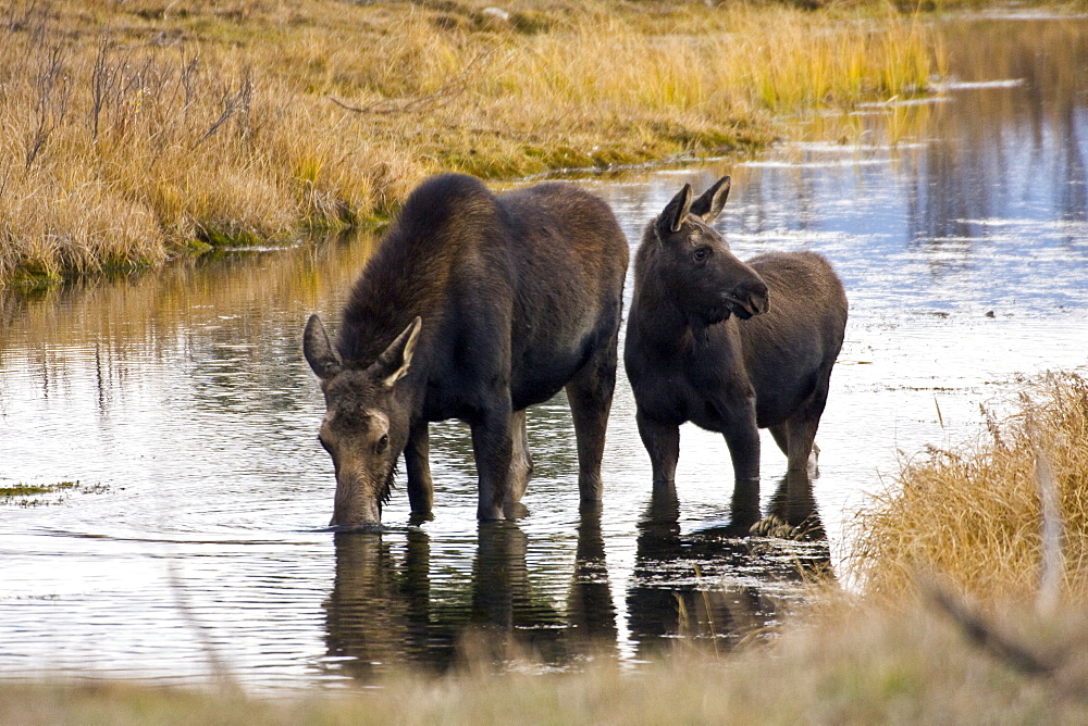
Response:
[[[1000,426],[987,415],[987,440],[904,466],[857,515],[853,566],[867,594],[894,601],[917,575],[937,574],[987,603],[1024,604],[1048,573],[1056,596],[1046,598],[1088,597],[1088,380],[1049,375],[1017,404]],[[1050,475],[1059,505],[1044,518]],[[1055,526],[1061,536],[1044,548]],[[1055,547],[1064,567],[1044,566]]]

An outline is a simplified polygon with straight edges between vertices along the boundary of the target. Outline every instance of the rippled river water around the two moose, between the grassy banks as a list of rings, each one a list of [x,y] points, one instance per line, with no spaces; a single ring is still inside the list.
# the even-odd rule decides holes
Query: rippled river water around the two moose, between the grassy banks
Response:
[[[304,243],[154,275],[0,293],[0,677],[252,691],[335,689],[469,653],[541,667],[636,664],[685,638],[767,637],[814,576],[842,578],[853,512],[903,461],[959,446],[1026,378],[1088,363],[1088,20],[948,22],[936,98],[803,122],[751,159],[579,184],[633,246],[684,182],[731,174],[742,259],[811,249],[851,320],[812,489],[765,435],[746,537],[720,437],[682,429],[678,499],[651,498],[620,374],[605,505],[579,515],[566,403],[531,410],[536,477],[516,523],[478,525],[467,428],[432,427],[435,517],[333,535],[323,404],[300,353],[335,327],[373,239]],[[967,42],[966,39],[969,39]],[[630,295],[630,281],[628,295]]]

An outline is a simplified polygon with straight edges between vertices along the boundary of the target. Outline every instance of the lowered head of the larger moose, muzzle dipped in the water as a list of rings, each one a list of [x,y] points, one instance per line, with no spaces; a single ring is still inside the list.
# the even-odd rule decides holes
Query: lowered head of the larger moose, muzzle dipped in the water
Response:
[[[369,365],[344,363],[329,343],[324,325],[311,315],[302,352],[321,379],[325,417],[318,439],[336,470],[334,526],[376,526],[388,501],[397,458],[408,442],[409,396],[400,380],[419,340],[417,317]]]

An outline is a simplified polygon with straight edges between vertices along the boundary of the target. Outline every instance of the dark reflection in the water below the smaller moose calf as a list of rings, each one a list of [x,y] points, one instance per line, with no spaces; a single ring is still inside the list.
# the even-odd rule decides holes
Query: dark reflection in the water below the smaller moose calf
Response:
[[[678,637],[732,647],[764,631],[789,608],[788,598],[775,594],[776,583],[832,576],[807,474],[782,477],[763,518],[751,491],[737,490],[729,524],[681,534],[676,487],[654,487],[639,524],[634,578],[627,594],[640,656],[676,643]],[[776,538],[750,538],[750,533]]]

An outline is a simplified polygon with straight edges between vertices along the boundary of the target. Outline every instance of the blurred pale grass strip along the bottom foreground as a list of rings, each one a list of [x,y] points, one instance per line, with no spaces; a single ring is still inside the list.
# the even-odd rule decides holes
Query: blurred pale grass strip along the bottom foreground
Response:
[[[1040,648],[1083,639],[1081,616],[1017,621]],[[840,611],[771,648],[702,651],[623,671],[434,679],[298,699],[125,684],[0,685],[4,724],[962,724],[1085,723],[1084,658],[1029,676],[972,646],[945,616]]]

